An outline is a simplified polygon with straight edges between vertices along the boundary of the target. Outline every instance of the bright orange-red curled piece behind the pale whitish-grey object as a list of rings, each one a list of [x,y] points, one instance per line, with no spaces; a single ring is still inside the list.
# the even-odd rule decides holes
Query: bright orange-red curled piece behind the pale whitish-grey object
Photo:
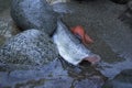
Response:
[[[86,33],[81,25],[77,25],[70,30],[85,45],[94,43],[94,40]]]

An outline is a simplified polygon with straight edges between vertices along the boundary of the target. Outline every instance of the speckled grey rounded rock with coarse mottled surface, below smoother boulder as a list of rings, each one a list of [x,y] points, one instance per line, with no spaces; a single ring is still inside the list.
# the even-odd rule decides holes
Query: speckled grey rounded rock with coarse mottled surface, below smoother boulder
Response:
[[[11,37],[0,50],[0,62],[4,64],[43,65],[56,57],[52,40],[34,29]]]

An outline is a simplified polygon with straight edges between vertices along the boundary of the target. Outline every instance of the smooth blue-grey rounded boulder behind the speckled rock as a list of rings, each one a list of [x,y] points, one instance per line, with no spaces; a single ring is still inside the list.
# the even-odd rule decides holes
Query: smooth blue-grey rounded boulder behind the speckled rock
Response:
[[[22,30],[38,29],[52,35],[56,28],[57,13],[45,0],[13,0],[11,16]]]

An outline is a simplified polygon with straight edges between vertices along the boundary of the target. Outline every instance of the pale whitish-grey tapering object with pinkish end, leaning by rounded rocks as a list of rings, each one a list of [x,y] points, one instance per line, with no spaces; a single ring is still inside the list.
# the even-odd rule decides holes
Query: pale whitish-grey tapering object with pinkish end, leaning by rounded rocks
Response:
[[[92,65],[97,64],[101,57],[88,50],[78,40],[62,20],[57,21],[57,29],[53,35],[59,55],[73,65],[78,65],[82,61],[88,61]]]

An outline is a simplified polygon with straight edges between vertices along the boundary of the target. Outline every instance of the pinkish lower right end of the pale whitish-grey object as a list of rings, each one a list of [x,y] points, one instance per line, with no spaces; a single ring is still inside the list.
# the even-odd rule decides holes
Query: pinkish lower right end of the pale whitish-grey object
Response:
[[[90,55],[84,58],[84,61],[89,62],[91,65],[96,65],[97,63],[99,63],[101,59],[101,57],[99,55]]]

